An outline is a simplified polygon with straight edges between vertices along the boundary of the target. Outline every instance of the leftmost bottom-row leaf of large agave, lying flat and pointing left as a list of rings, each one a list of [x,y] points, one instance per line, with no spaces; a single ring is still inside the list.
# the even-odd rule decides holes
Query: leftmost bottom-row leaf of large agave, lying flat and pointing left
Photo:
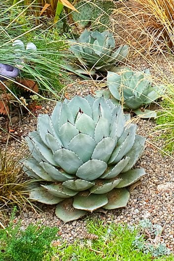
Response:
[[[64,200],[63,198],[51,195],[49,192],[46,191],[46,189],[41,186],[33,188],[30,191],[29,198],[48,205],[58,204],[59,202]]]

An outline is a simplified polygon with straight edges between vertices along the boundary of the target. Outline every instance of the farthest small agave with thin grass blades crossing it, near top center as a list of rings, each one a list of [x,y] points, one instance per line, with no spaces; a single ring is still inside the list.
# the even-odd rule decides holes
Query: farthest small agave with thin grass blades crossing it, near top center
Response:
[[[70,41],[70,51],[75,55],[75,65],[69,65],[68,70],[77,74],[94,75],[96,71],[114,72],[118,63],[128,54],[129,46],[115,47],[113,34],[109,31],[85,30],[77,41]]]

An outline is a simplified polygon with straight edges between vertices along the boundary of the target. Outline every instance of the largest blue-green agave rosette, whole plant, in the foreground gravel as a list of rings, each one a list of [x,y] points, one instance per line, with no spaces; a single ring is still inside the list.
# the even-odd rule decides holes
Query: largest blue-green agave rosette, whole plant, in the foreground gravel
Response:
[[[24,170],[37,182],[30,198],[58,203],[64,222],[101,207],[125,207],[127,187],[145,174],[132,169],[145,142],[136,128],[121,106],[103,97],[58,102],[51,116],[39,115],[37,131],[27,137],[33,157]]]

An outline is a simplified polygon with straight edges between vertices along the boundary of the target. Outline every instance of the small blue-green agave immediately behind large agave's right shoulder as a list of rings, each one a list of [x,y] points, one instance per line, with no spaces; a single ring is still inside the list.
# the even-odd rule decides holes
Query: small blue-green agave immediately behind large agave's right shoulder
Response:
[[[104,96],[111,98],[115,105],[122,104],[123,108],[131,109],[141,118],[156,117],[156,112],[142,107],[149,105],[164,94],[164,86],[152,86],[148,69],[134,72],[129,68],[120,73],[107,72],[109,91],[96,91],[96,98]]]

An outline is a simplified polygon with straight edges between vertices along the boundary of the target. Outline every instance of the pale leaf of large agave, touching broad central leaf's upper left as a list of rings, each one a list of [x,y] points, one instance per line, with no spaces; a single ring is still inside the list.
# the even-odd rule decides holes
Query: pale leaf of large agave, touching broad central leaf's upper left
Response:
[[[79,131],[77,130],[77,128],[74,125],[72,125],[70,122],[66,122],[62,125],[62,127],[60,128],[60,139],[62,141],[64,148],[66,149],[68,148],[70,141],[78,133]]]

